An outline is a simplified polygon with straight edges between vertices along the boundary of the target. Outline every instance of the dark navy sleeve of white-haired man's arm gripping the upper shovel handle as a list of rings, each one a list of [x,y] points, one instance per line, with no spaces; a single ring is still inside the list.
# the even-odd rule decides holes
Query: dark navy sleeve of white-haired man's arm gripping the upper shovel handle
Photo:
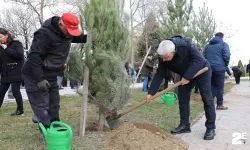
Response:
[[[192,44],[190,48],[188,49],[188,57],[190,60],[189,67],[184,73],[183,77],[186,80],[191,80],[193,76],[200,69],[202,69],[202,67],[204,67],[205,59],[194,44]]]

